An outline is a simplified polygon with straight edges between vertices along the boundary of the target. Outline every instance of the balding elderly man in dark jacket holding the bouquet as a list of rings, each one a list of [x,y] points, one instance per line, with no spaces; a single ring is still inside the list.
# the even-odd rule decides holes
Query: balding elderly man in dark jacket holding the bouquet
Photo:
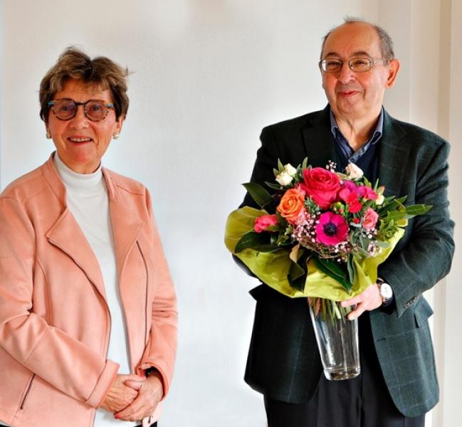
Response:
[[[277,159],[314,167],[353,162],[386,195],[433,209],[409,222],[378,283],[344,304],[357,304],[362,373],[327,381],[308,304],[267,285],[251,291],[256,315],[246,381],[264,395],[269,427],[424,426],[439,400],[422,292],[448,273],[453,222],[446,197],[448,143],[392,118],[382,107],[399,70],[392,41],[378,26],[347,20],[325,36],[320,60],[329,105],[263,129],[252,181],[273,181]],[[246,196],[246,205],[252,205]]]

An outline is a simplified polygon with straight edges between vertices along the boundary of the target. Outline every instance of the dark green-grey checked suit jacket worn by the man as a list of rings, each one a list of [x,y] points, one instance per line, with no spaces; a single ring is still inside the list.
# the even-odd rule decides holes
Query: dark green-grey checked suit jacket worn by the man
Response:
[[[449,144],[438,135],[384,113],[379,140],[380,184],[385,195],[407,195],[406,204],[434,206],[409,221],[404,238],[379,267],[394,290],[393,310],[370,312],[374,345],[389,392],[405,416],[419,416],[439,400],[428,317],[433,313],[422,292],[446,275],[453,256],[453,221],[448,213]],[[273,167],[313,167],[335,159],[330,110],[280,122],[263,129],[251,181],[273,182]],[[252,205],[250,196],[244,203]],[[322,367],[304,298],[290,299],[266,285],[251,290],[256,314],[246,367],[246,382],[271,399],[308,401]]]

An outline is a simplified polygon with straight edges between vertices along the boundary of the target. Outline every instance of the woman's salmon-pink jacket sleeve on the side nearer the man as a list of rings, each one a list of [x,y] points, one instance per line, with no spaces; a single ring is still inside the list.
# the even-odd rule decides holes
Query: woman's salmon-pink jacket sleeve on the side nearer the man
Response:
[[[155,265],[155,290],[152,301],[151,330],[138,373],[155,368],[162,376],[164,397],[172,382],[175,355],[177,353],[177,296],[170,277],[167,260],[154,220],[149,192],[146,190],[147,209],[152,221]]]

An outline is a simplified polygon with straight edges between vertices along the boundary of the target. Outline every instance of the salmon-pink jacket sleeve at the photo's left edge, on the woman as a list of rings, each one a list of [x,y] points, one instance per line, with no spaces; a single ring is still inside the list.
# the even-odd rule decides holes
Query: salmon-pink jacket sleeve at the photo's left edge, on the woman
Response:
[[[23,206],[0,198],[0,345],[64,394],[98,407],[118,365],[32,311],[36,235]],[[49,320],[48,320],[49,321]]]

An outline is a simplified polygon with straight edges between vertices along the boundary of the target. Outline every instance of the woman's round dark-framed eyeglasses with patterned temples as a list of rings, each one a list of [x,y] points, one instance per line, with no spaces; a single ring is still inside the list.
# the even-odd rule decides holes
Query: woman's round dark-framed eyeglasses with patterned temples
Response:
[[[89,100],[87,102],[75,102],[70,99],[49,101],[48,107],[59,120],[70,120],[77,114],[77,107],[83,105],[83,114],[92,122],[104,120],[109,110],[114,108],[114,104],[107,104],[100,100]]]

